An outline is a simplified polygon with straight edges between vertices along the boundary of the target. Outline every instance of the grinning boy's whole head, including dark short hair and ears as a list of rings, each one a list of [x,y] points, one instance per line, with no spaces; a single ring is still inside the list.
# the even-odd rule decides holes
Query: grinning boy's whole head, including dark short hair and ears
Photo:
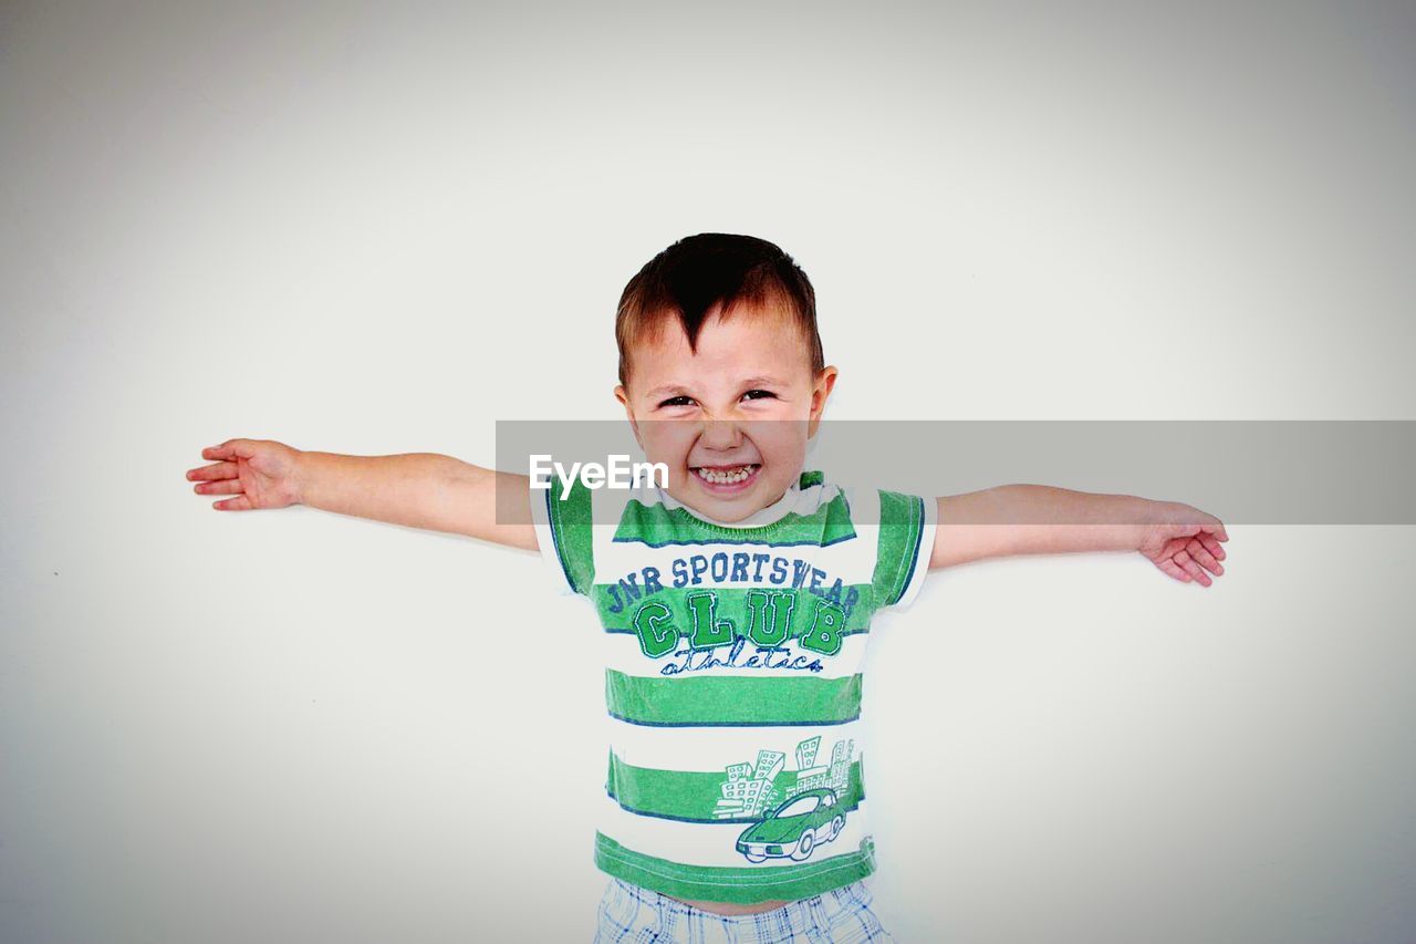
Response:
[[[739,522],[797,481],[837,370],[792,257],[746,235],[680,240],[624,286],[615,339],[615,395],[670,495]]]

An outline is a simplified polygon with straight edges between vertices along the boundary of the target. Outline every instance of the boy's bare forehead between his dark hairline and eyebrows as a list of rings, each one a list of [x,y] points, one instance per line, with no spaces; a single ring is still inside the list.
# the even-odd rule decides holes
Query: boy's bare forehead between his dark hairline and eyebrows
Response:
[[[632,383],[646,388],[705,374],[777,377],[790,383],[803,364],[804,373],[810,373],[800,325],[777,309],[742,306],[726,320],[714,313],[698,332],[695,347],[697,352],[690,349],[677,316],[660,319],[657,332],[646,333],[630,347]]]

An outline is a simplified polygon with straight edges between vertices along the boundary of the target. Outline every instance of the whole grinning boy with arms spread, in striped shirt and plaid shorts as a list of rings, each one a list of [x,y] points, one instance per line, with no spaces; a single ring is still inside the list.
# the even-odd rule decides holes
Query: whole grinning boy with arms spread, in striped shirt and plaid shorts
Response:
[[[929,570],[1005,554],[1134,550],[1222,574],[1223,524],[1175,502],[1005,485],[922,498],[804,469],[837,380],[806,274],[776,245],[700,234],[629,282],[623,404],[667,483],[589,489],[450,456],[346,456],[231,439],[191,469],[219,510],[300,502],[539,550],[605,629],[613,726],[596,940],[889,935],[862,777],[861,661],[875,612]],[[521,520],[496,495],[530,496]]]

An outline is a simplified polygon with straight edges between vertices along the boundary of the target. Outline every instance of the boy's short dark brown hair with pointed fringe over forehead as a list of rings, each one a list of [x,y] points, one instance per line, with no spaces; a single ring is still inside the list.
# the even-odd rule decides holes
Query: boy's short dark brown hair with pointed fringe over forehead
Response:
[[[811,376],[826,367],[816,327],[816,289],[790,255],[776,244],[749,235],[700,232],[684,237],[644,264],[624,286],[615,316],[619,377],[629,383],[629,350],[677,315],[697,353],[698,333],[714,305],[721,318],[743,303],[763,308],[777,302],[800,326],[811,349]]]

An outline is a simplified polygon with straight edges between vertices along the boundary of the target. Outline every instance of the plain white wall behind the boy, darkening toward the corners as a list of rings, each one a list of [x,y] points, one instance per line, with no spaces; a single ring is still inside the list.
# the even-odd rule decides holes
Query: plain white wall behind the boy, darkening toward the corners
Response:
[[[1399,1],[0,6],[0,940],[589,940],[589,611],[217,513],[201,446],[613,418],[700,231],[813,278],[828,417],[1416,418],[1413,52]],[[1416,940],[1412,529],[1229,532],[1209,590],[987,561],[878,624],[899,940]]]

